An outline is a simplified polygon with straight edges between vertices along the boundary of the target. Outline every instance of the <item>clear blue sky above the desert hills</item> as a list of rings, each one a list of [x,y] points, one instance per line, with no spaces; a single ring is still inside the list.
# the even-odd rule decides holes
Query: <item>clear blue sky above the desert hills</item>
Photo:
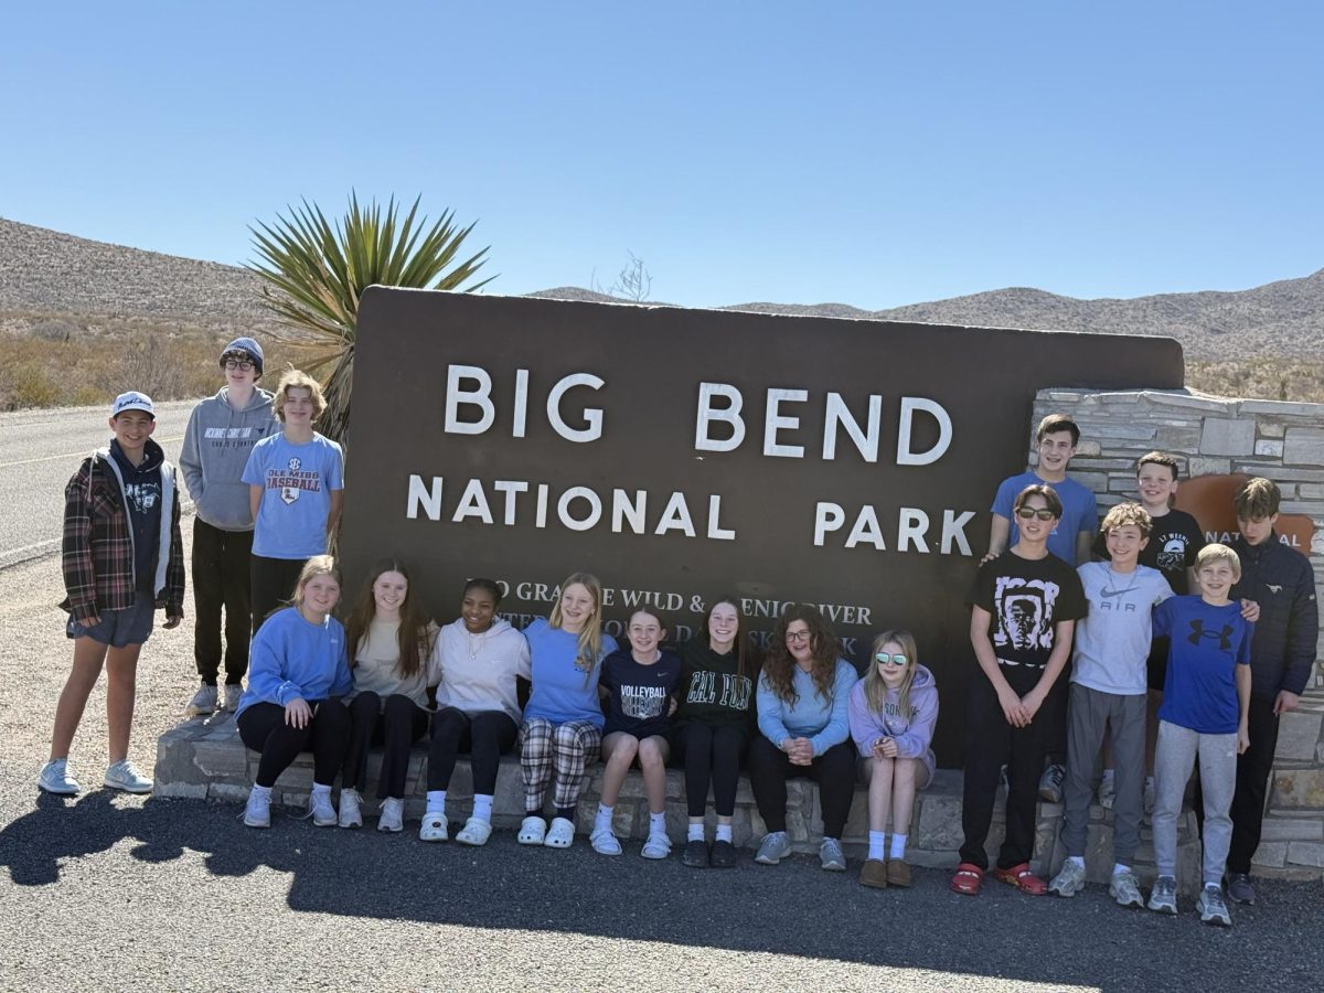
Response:
[[[1324,267],[1321,28],[1217,0],[11,5],[0,216],[241,263],[301,197],[422,193],[478,221],[494,293],[630,250],[691,306],[1245,289]]]

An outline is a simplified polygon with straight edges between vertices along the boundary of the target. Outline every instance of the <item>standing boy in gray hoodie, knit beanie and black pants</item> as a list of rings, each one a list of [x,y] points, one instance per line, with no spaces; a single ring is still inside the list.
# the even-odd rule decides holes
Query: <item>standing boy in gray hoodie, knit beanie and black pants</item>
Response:
[[[253,514],[249,487],[241,479],[249,453],[279,429],[271,395],[257,387],[262,348],[236,338],[221,352],[225,385],[193,408],[184,432],[179,465],[197,508],[193,522],[193,605],[197,624],[193,658],[203,685],[189,714],[233,711],[244,691],[249,661],[249,556]],[[225,613],[225,691],[221,671],[221,612]]]

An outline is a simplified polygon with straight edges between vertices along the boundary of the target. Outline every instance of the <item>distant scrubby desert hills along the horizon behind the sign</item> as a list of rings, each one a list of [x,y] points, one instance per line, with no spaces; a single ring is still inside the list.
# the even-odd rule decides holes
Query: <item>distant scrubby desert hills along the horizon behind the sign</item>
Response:
[[[0,331],[24,334],[53,318],[151,318],[213,330],[274,327],[260,305],[260,279],[245,269],[87,241],[0,218]],[[530,294],[620,302],[592,290]],[[1012,287],[859,310],[843,303],[741,303],[723,310],[859,320],[1168,335],[1196,360],[1324,357],[1324,269],[1237,293],[1169,293],[1080,301]]]

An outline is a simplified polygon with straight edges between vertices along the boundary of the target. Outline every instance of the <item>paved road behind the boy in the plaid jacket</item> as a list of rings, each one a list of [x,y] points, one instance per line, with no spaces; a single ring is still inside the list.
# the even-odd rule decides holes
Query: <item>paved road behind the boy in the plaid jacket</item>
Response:
[[[152,437],[172,462],[195,402],[156,406]],[[0,568],[60,547],[65,483],[89,451],[110,441],[106,417],[95,406],[0,414]]]

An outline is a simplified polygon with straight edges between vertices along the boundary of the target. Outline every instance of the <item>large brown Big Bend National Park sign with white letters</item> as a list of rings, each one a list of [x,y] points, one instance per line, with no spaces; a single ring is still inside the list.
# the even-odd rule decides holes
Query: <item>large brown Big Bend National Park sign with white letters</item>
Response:
[[[965,594],[1035,391],[1182,385],[1161,338],[380,287],[357,340],[348,593],[399,555],[438,622],[489,576],[522,626],[588,569],[618,637],[643,602],[687,637],[731,592],[760,638],[818,605],[857,666],[908,628],[944,765],[974,667]]]

